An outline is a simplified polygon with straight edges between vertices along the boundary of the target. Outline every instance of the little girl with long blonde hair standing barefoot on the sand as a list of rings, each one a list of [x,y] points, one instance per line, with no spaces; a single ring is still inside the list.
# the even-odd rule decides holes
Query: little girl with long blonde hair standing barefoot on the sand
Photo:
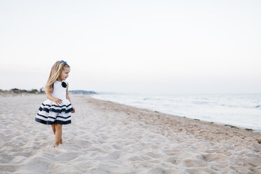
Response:
[[[46,96],[39,107],[35,121],[44,124],[51,124],[55,134],[55,145],[62,144],[62,125],[71,123],[71,112],[74,107],[68,95],[68,82],[65,81],[69,76],[70,67],[67,62],[61,60],[55,62],[51,69],[49,79],[46,84]]]

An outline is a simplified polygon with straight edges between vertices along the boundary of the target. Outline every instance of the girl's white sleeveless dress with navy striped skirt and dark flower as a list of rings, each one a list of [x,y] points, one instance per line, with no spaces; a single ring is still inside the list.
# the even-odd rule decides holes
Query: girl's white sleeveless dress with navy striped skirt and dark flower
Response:
[[[72,105],[66,98],[66,81],[55,81],[53,83],[53,97],[60,98],[61,104],[56,104],[51,100],[45,100],[39,107],[35,121],[44,124],[68,124],[71,123]]]

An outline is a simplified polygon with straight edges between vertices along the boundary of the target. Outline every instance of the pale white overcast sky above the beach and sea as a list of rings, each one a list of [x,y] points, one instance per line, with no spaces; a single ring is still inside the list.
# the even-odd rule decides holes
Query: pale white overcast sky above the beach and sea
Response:
[[[261,1],[0,0],[0,88],[261,93]]]

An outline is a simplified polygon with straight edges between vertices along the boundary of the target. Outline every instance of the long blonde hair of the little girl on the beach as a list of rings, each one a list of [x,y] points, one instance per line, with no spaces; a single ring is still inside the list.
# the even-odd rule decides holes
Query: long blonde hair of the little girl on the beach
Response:
[[[53,65],[51,69],[51,73],[49,75],[48,81],[46,83],[46,92],[51,91],[53,92],[53,83],[59,78],[59,76],[62,74],[63,67],[69,67],[69,65],[64,61],[57,61]]]

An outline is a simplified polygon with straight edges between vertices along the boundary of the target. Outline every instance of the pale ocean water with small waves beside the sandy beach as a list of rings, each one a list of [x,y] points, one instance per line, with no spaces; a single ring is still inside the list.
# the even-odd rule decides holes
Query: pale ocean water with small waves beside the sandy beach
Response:
[[[106,94],[92,98],[261,132],[261,94]]]

